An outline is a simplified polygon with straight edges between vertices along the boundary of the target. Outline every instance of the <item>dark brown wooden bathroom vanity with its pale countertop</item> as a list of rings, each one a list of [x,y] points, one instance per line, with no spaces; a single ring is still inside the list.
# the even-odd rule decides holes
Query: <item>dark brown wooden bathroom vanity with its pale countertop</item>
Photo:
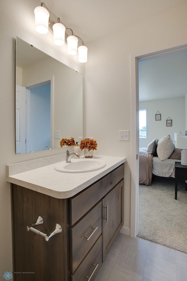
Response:
[[[32,161],[22,164],[25,171],[21,173],[17,173],[22,170],[20,163],[18,169],[16,164],[8,166],[14,280],[95,279],[123,226],[126,161],[122,157],[95,157],[107,163],[105,168],[80,174],[60,173],[54,164],[41,167],[40,163],[34,169]],[[43,224],[34,228],[50,235],[57,223],[61,233],[46,241],[27,231],[38,216]]]

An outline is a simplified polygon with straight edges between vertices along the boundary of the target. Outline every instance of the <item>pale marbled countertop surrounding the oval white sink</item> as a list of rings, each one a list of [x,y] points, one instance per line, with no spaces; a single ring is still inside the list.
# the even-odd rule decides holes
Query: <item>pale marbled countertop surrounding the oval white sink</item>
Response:
[[[89,173],[61,173],[54,170],[56,163],[53,163],[32,170],[26,169],[24,172],[12,175],[11,166],[14,168],[16,167],[16,164],[13,164],[7,166],[7,181],[55,198],[69,198],[110,173],[126,161],[126,158],[124,157],[114,156],[97,155],[93,156],[93,158],[105,161],[106,166],[100,170]],[[41,161],[41,159],[39,160]],[[28,161],[28,164],[27,162],[22,162],[24,170],[26,165],[29,167],[30,162],[31,161]],[[59,163],[59,161],[57,162]],[[22,163],[18,163],[18,167],[20,167],[20,164]]]

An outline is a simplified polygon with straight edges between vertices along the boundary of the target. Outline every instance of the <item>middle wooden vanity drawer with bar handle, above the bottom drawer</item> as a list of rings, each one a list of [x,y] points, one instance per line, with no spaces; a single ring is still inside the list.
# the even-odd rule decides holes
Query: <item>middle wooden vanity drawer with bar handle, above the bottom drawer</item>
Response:
[[[100,201],[70,228],[70,270],[72,273],[89,252],[101,232],[102,202]]]

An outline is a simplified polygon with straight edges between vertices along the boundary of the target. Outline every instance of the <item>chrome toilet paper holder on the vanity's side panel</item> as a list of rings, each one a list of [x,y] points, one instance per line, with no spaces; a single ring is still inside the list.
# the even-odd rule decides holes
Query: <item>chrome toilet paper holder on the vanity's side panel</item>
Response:
[[[41,230],[39,230],[39,229],[37,229],[36,227],[34,227],[34,226],[36,226],[36,225],[42,225],[43,223],[44,223],[43,218],[42,218],[41,216],[39,216],[39,217],[35,220],[34,223],[32,223],[32,224],[30,224],[30,225],[27,226],[27,231],[31,230],[32,232],[34,232],[34,233],[36,233],[36,234],[38,234],[38,235],[43,236],[46,242],[49,241],[49,239],[50,239],[53,235],[62,232],[62,227],[61,227],[58,223],[55,224],[53,230],[52,230],[51,232],[49,232],[48,234],[45,233],[45,232],[42,232]]]

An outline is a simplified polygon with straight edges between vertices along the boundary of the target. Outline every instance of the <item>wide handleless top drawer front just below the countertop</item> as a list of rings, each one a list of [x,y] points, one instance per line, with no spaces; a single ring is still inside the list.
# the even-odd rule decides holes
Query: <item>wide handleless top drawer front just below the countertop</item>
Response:
[[[70,225],[77,222],[124,177],[124,164],[91,185],[82,193],[70,198]]]

